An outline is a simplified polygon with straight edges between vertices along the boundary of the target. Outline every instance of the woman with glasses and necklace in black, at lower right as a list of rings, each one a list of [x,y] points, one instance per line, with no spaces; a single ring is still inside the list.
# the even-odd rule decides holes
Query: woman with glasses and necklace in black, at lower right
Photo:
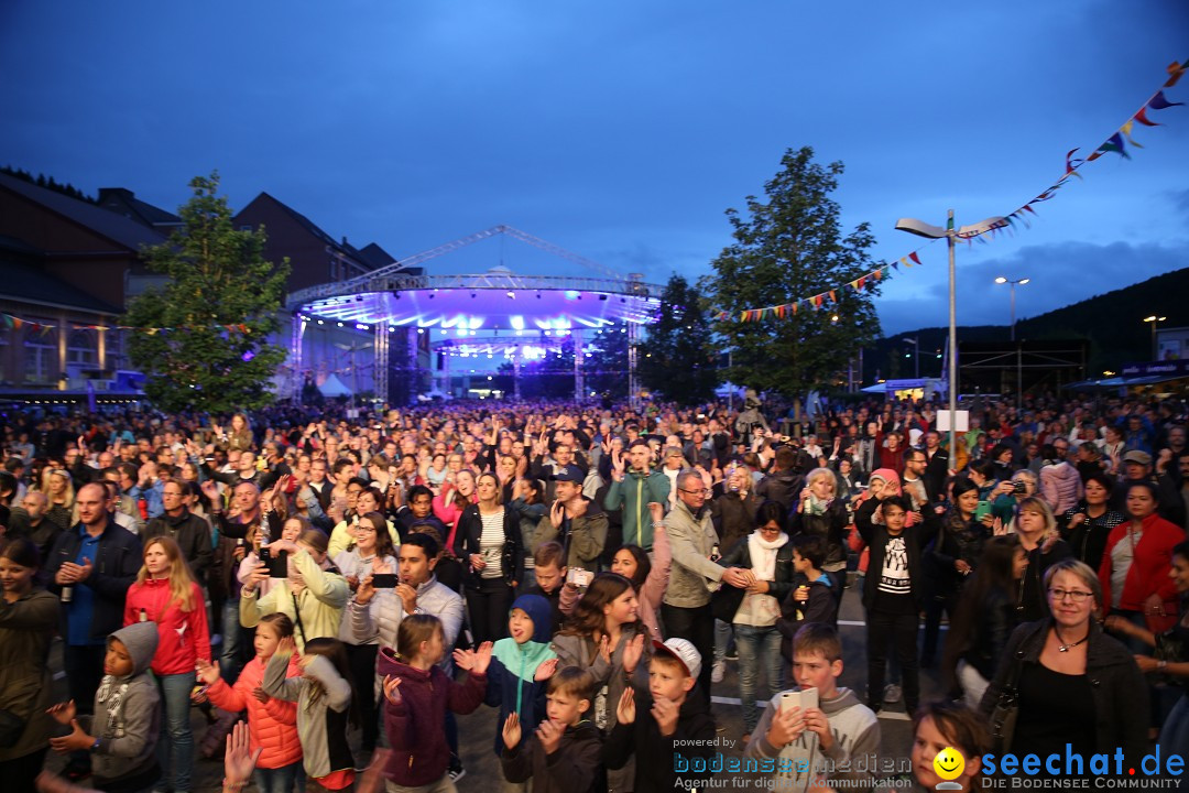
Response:
[[[1052,754],[1081,755],[1080,775],[1090,774],[1092,755],[1113,756],[1120,748],[1124,768],[1138,767],[1147,716],[1135,704],[1147,699],[1147,686],[1131,652],[1094,619],[1102,604],[1097,575],[1084,562],[1062,559],[1044,585],[1051,616],[1015,629],[980,710],[992,716],[1000,694],[1014,691],[1015,729],[1005,736],[1005,751],[1039,756],[1039,776],[1049,774],[1044,759]],[[1064,761],[1061,772],[1070,775]]]

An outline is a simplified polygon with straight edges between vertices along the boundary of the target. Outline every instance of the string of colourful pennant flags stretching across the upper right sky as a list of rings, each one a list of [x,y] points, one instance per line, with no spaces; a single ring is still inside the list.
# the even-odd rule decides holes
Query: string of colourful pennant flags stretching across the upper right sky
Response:
[[[1127,152],[1127,146],[1131,145],[1135,149],[1143,149],[1140,144],[1135,143],[1132,134],[1135,130],[1135,124],[1143,126],[1155,127],[1163,126],[1158,121],[1153,121],[1149,118],[1149,111],[1163,111],[1170,107],[1184,106],[1184,102],[1171,102],[1168,96],[1164,95],[1164,89],[1172,88],[1181,80],[1185,70],[1189,69],[1189,58],[1177,62],[1174,61],[1169,64],[1168,78],[1163,86],[1152,94],[1147,101],[1145,101],[1140,108],[1127,119],[1127,121],[1115,130],[1111,136],[1103,140],[1090,155],[1087,157],[1075,157],[1080,149],[1070,149],[1065,152],[1065,170],[1056,182],[1042,190],[1037,196],[1026,201],[1021,207],[1014,212],[1008,213],[1004,216],[1002,222],[996,222],[987,226],[986,228],[974,228],[969,229],[962,234],[955,234],[955,237],[961,237],[967,244],[973,244],[977,240],[980,244],[987,244],[986,235],[990,235],[992,239],[995,235],[1006,229],[1014,229],[1017,224],[1023,224],[1025,228],[1032,228],[1028,215],[1032,218],[1038,218],[1037,210],[1032,208],[1032,204],[1042,203],[1044,201],[1051,201],[1057,190],[1065,185],[1070,177],[1076,176],[1077,178],[1083,178],[1077,171],[1086,165],[1086,163],[1092,163],[1095,159],[1102,157],[1102,155],[1114,152],[1120,155],[1124,159],[1131,159],[1131,155]],[[799,306],[805,306],[806,308],[820,309],[824,307],[825,301],[829,300],[831,303],[838,302],[837,292],[843,290],[843,287],[848,287],[856,292],[862,292],[864,289],[874,288],[876,282],[881,282],[886,278],[892,277],[893,272],[900,271],[900,265],[905,268],[919,266],[921,264],[919,252],[924,250],[927,245],[936,243],[937,240],[930,240],[926,245],[912,251],[911,253],[894,259],[891,263],[883,263],[875,270],[867,272],[854,281],[849,281],[845,284],[836,285],[817,295],[811,295],[809,297],[799,297],[792,300],[787,303],[781,303],[780,306],[767,306],[765,308],[751,308],[743,311],[723,311],[719,310],[712,314],[712,319],[724,322],[729,320],[737,320],[740,322],[759,322],[769,316],[775,316],[778,319],[786,319],[788,316],[795,316]]]

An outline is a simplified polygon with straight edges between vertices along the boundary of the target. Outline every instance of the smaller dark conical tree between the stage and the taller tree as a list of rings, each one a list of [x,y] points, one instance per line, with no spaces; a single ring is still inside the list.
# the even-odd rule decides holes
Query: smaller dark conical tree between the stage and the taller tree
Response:
[[[716,358],[706,309],[690,282],[674,275],[661,295],[660,319],[640,346],[641,383],[679,404],[709,402],[718,385]]]

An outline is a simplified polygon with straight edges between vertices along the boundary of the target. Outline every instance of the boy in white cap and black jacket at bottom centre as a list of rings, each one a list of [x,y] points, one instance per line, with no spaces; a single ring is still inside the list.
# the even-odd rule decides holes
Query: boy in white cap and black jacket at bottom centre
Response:
[[[606,767],[623,768],[638,753],[647,762],[636,763],[635,793],[702,787],[715,753],[715,718],[702,697],[690,696],[702,655],[685,638],[654,641],[647,682],[642,669],[619,698],[618,723],[603,744]]]

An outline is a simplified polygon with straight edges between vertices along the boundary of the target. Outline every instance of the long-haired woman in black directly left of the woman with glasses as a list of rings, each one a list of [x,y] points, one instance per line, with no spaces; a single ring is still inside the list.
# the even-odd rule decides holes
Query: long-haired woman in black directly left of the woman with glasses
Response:
[[[992,537],[967,584],[945,640],[945,685],[961,688],[967,705],[979,707],[987,682],[1020,624],[1020,579],[1028,558],[1014,534]]]

